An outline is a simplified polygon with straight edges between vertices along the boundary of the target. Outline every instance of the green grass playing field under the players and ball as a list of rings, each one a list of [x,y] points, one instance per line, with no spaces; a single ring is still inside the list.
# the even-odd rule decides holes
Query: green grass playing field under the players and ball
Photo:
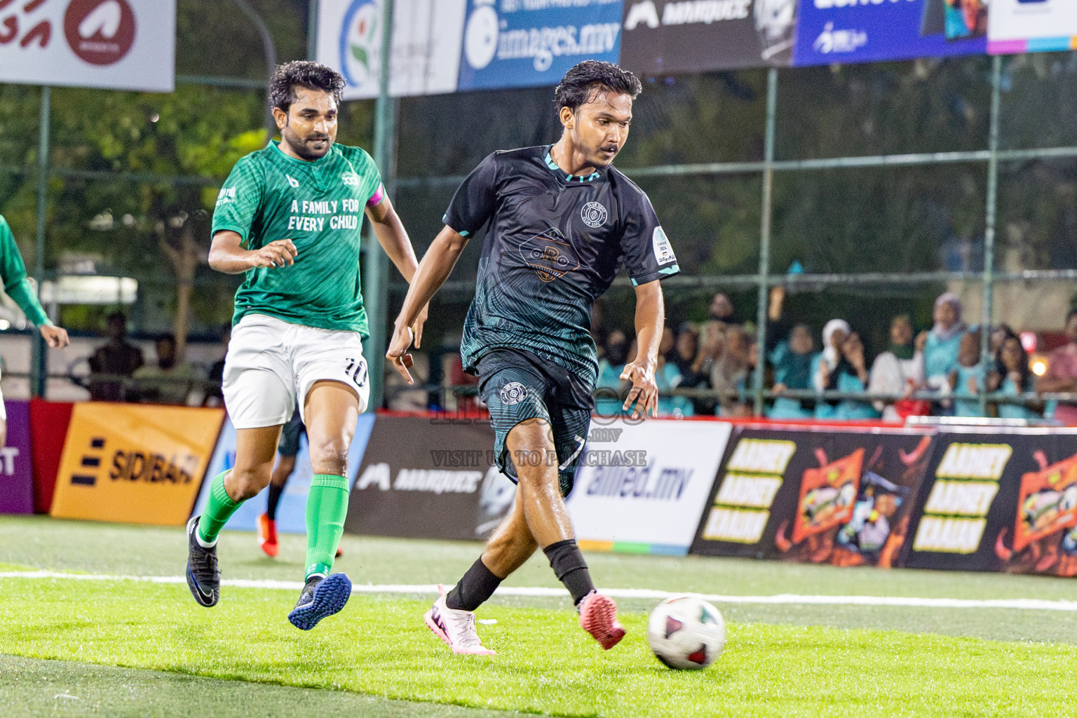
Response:
[[[277,560],[249,534],[221,541],[225,579],[298,581],[303,538]],[[346,537],[356,583],[451,582],[476,544]],[[179,529],[0,519],[0,572],[180,576]],[[955,599],[1071,600],[1073,581],[849,569],[739,560],[589,554],[609,588]],[[556,587],[542,557],[506,586]],[[432,596],[353,595],[309,633],[285,619],[297,592],[222,590],[213,609],[182,583],[0,578],[3,716],[1072,716],[1071,611],[725,604],[729,638],[710,670],[649,653],[646,613],[604,652],[568,597],[499,597],[479,610],[493,658],[453,657],[423,625]]]

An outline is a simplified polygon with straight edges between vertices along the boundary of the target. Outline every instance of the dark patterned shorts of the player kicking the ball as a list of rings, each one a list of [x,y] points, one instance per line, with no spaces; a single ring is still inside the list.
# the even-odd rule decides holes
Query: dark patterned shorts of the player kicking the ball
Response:
[[[494,349],[477,363],[479,395],[490,410],[498,467],[516,480],[516,464],[537,456],[510,456],[505,438],[528,419],[553,430],[561,494],[569,495],[584,451],[595,406],[590,390],[568,369],[520,349]]]

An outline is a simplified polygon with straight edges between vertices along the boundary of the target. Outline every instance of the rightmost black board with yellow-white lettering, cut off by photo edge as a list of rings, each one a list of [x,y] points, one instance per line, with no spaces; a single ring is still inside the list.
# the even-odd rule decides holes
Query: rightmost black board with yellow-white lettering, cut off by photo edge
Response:
[[[945,432],[935,454],[909,566],[1077,576],[1077,431]]]

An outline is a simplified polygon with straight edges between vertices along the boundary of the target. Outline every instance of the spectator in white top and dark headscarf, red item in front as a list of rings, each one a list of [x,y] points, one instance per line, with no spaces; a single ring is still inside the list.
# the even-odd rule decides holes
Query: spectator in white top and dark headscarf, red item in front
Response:
[[[910,399],[924,383],[924,353],[914,343],[912,319],[898,314],[890,323],[890,347],[871,364],[868,393],[900,394],[896,402],[876,402],[875,408],[885,421],[900,421],[906,417],[922,416],[931,410],[926,402]]]

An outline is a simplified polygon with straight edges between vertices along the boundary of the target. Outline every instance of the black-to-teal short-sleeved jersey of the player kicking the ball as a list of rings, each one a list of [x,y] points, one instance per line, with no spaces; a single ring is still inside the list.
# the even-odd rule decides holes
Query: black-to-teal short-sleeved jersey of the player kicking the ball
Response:
[[[619,171],[565,174],[550,147],[495,152],[457,189],[445,224],[470,237],[490,222],[461,354],[527,349],[593,388],[591,308],[621,265],[632,284],[680,269],[647,195]]]

